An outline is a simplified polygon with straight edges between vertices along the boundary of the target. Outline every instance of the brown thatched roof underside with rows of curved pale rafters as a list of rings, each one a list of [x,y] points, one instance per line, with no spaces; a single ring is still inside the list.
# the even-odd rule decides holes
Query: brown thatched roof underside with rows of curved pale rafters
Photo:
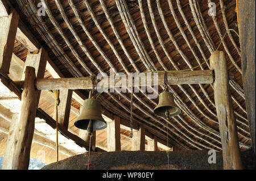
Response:
[[[16,2],[13,6],[20,10],[22,21],[39,43],[48,47],[49,57],[65,77],[109,74],[110,68],[115,73],[183,70],[203,62],[189,71],[207,70],[210,54],[217,48],[223,50],[233,74],[230,89],[241,149],[249,148],[240,44],[234,32],[238,32],[236,1],[42,0],[46,16],[37,15],[40,1]],[[210,2],[216,3],[216,16],[208,15]],[[26,59],[27,50],[21,44],[16,43],[14,53]],[[185,149],[220,151],[213,85],[169,88],[181,109],[179,116],[168,121],[169,141]],[[159,92],[162,90],[159,86]],[[81,92],[88,96],[87,91]],[[130,120],[130,98],[130,93],[115,91],[102,94],[100,99],[109,112]],[[75,100],[72,103],[76,108],[81,106]],[[157,103],[158,99],[148,99],[145,93],[134,93],[133,119],[167,140],[166,119],[152,112]],[[73,120],[69,129],[78,132]]]

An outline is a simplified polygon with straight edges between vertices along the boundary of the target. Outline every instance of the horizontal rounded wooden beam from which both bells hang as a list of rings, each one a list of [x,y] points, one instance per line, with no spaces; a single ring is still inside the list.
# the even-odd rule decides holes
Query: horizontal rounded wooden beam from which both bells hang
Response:
[[[151,77],[151,81],[147,81],[147,77]],[[154,81],[154,78],[156,80]],[[144,81],[143,81],[144,78]],[[111,88],[110,85],[112,77],[105,77],[99,83],[102,85],[101,88]],[[129,86],[129,77],[123,75],[122,77],[115,78],[114,87],[120,87],[117,82],[124,79],[125,83]],[[135,75],[134,80],[138,80],[139,86],[158,86],[164,85],[164,73],[140,73]],[[23,81],[15,82],[18,86],[23,86]],[[148,84],[149,85],[148,85]],[[178,71],[178,72],[168,72],[167,73],[167,83],[168,85],[182,85],[182,84],[199,84],[199,83],[213,83],[213,72],[212,70],[197,70],[197,71]],[[96,85],[97,82],[94,82]],[[136,86],[135,83],[131,85]],[[47,78],[47,79],[37,79],[35,86],[38,90],[78,90],[78,89],[92,89],[93,81],[90,77],[79,77],[79,78]],[[126,85],[123,85],[126,86]]]

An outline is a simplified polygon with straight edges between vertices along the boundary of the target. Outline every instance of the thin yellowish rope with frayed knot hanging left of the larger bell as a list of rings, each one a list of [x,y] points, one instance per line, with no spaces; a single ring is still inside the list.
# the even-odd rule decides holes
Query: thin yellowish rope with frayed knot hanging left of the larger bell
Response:
[[[54,98],[55,98],[55,113],[56,113],[56,162],[59,161],[59,118],[58,118],[58,106],[60,105],[60,90],[53,90]]]

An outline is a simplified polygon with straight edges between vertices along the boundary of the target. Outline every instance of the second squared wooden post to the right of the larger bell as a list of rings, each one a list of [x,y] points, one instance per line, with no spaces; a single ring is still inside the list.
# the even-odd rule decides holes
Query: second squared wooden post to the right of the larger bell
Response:
[[[145,129],[144,127],[140,127],[139,130],[133,131],[133,138],[131,138],[131,150],[137,151],[145,150]]]

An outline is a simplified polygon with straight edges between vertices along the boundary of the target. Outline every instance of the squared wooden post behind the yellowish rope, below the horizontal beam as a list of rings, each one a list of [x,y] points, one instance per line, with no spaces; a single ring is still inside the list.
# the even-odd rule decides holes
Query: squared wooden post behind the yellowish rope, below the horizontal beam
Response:
[[[60,105],[58,106],[59,124],[66,129],[68,129],[69,123],[72,92],[72,90],[60,90]]]

